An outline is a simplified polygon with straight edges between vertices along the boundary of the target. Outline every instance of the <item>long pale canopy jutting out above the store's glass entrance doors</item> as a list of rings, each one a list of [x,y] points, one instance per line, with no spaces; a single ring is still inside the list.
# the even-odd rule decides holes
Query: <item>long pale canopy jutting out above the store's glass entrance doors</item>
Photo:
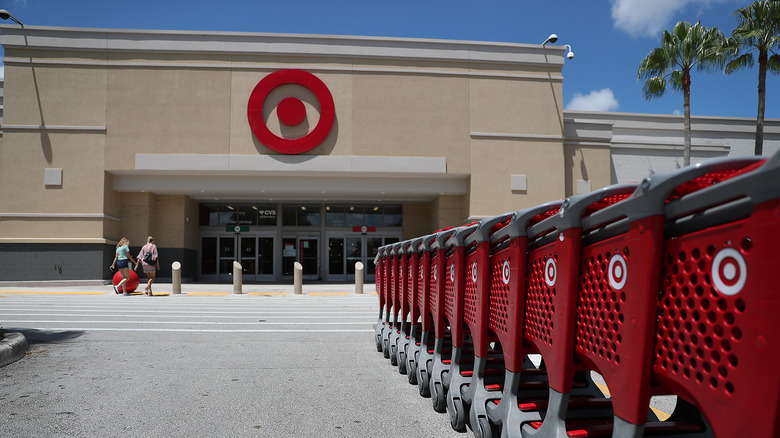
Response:
[[[137,154],[114,190],[206,199],[431,200],[463,195],[443,157]]]

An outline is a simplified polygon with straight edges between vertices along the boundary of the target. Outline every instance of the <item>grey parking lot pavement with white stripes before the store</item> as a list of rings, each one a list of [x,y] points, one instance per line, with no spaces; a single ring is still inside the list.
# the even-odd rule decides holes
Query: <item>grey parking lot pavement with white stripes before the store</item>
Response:
[[[0,368],[3,435],[463,436],[376,351],[376,295],[223,286],[2,288],[30,344]]]

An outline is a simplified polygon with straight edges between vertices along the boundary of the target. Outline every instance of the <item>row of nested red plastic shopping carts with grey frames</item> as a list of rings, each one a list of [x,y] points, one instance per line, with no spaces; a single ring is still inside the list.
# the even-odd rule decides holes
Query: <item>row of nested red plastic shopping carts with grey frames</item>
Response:
[[[778,437],[779,251],[780,153],[710,160],[382,247],[376,347],[477,437]]]

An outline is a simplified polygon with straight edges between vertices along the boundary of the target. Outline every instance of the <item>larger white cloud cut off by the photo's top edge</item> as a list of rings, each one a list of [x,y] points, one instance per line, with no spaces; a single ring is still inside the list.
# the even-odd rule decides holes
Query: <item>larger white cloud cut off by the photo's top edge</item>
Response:
[[[609,0],[615,27],[633,38],[654,37],[668,27],[672,17],[689,5],[707,8],[731,0]]]

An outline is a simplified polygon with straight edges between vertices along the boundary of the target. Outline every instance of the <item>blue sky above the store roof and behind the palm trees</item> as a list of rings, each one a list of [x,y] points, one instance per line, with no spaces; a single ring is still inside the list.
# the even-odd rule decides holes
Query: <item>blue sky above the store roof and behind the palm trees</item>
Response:
[[[365,35],[541,44],[558,35],[575,58],[563,68],[567,109],[679,114],[671,89],[642,97],[639,62],[678,21],[729,35],[740,0],[0,0],[26,25]],[[10,23],[6,22],[6,23]],[[0,70],[2,73],[2,70]],[[756,117],[757,68],[694,72],[694,115]],[[766,117],[780,118],[780,76],[767,81]]]

